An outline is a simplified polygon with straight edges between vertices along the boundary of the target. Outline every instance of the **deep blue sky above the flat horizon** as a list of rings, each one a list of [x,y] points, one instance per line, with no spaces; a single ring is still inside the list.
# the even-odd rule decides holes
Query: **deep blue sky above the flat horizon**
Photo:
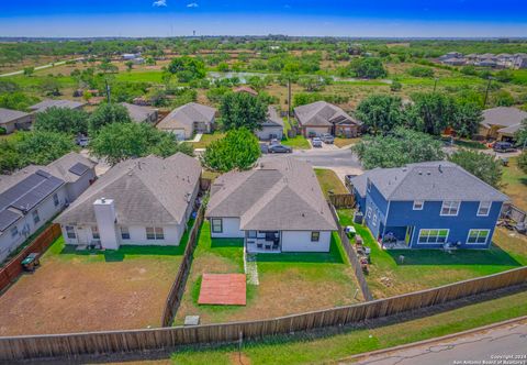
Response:
[[[0,0],[0,36],[527,37],[527,0]]]

